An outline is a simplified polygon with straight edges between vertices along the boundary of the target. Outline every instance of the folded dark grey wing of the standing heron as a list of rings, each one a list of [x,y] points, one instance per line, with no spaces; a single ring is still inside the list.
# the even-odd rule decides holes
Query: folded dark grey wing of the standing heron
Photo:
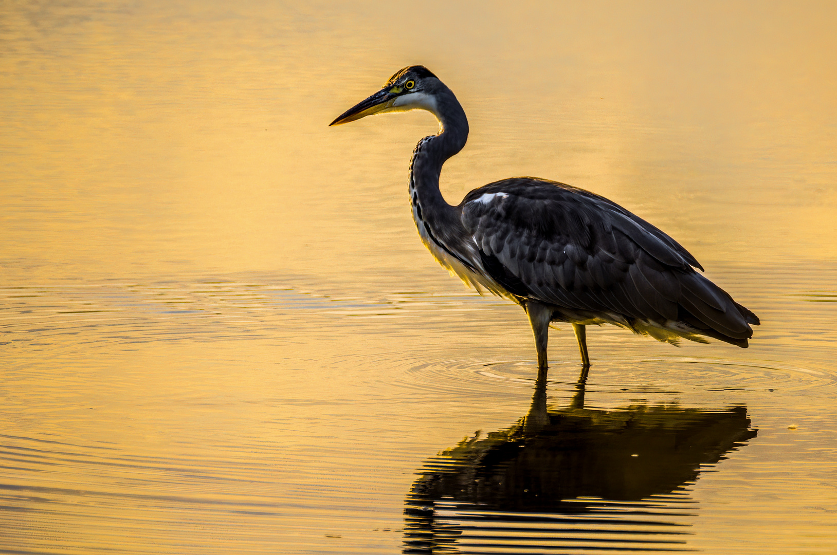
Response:
[[[630,319],[685,321],[745,346],[752,312],[698,274],[674,239],[596,194],[516,177],[471,191],[462,222],[485,271],[511,293]]]

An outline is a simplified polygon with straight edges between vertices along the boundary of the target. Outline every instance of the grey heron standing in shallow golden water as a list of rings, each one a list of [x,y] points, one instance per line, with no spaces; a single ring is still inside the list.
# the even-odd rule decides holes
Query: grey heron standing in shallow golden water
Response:
[[[523,307],[547,371],[552,321],[573,324],[587,377],[585,327],[614,324],[676,344],[714,337],[747,347],[758,317],[696,272],[695,257],[619,204],[564,183],[512,177],[477,188],[458,206],[439,192],[442,165],[465,146],[468,119],[454,93],[413,65],[331,126],[384,112],[428,110],[439,133],[413,151],[408,173],[413,219],[439,264],[476,290]]]

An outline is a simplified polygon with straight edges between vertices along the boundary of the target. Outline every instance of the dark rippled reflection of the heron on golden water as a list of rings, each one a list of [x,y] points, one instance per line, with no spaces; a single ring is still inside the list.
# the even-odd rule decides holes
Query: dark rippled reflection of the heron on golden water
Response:
[[[545,376],[508,429],[426,461],[407,497],[404,553],[681,552],[706,465],[757,434],[745,407],[642,404],[547,411]]]

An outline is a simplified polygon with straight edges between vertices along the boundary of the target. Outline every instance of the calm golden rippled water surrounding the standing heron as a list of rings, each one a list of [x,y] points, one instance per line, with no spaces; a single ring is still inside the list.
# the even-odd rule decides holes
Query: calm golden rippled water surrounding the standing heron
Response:
[[[6,3],[0,553],[837,551],[837,11]],[[458,202],[570,182],[690,249],[749,349],[552,331],[419,244],[431,116],[326,124],[423,63]]]

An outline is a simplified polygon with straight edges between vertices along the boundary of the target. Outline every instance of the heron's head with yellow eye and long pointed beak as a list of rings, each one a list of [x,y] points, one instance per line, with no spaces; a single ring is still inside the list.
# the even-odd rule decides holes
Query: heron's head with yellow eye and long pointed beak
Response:
[[[339,126],[372,114],[407,110],[428,110],[438,117],[434,92],[439,85],[439,78],[424,65],[410,65],[390,77],[383,89],[346,110],[329,126]]]

